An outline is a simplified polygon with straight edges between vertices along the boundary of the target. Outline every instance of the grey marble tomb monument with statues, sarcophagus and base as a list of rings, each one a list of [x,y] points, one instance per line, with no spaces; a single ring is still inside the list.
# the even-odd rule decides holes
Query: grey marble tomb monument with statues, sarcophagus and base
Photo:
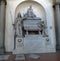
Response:
[[[45,21],[42,21],[42,18],[34,14],[32,6],[27,9],[23,16],[21,16],[20,12],[18,13],[13,27],[15,31],[14,54],[44,53],[45,45],[49,46],[51,44],[47,24]]]

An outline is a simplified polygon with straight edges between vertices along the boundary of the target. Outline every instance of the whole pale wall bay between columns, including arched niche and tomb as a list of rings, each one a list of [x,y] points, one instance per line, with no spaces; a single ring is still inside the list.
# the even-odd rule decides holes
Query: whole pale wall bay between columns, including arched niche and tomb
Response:
[[[52,0],[7,0],[5,50],[14,54],[56,52]]]

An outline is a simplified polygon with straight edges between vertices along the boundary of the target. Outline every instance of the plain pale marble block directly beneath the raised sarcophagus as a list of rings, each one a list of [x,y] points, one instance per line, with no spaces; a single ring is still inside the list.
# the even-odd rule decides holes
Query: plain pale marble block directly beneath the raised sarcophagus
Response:
[[[24,51],[26,53],[40,53],[41,48],[44,48],[44,38],[39,35],[26,35],[24,38]]]

